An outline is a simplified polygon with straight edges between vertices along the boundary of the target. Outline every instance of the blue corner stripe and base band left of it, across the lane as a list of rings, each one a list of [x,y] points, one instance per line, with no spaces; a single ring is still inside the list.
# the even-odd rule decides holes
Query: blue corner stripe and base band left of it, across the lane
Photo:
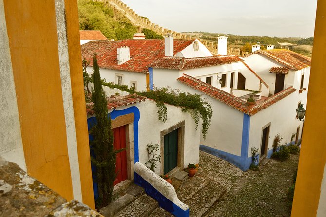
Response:
[[[242,139],[241,139],[241,156],[230,154],[215,148],[205,145],[200,145],[200,150],[210,153],[214,156],[222,158],[233,165],[239,167],[242,171],[247,171],[252,163],[252,158],[248,157],[249,152],[249,132],[250,132],[250,116],[244,114],[242,126]]]

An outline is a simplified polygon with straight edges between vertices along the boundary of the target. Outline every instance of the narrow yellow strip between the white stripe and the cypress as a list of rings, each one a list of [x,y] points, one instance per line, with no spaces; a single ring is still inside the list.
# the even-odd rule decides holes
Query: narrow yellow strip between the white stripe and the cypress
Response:
[[[70,76],[75,112],[75,126],[83,203],[94,206],[91,159],[88,143],[84,83],[81,67],[77,0],[65,0]]]

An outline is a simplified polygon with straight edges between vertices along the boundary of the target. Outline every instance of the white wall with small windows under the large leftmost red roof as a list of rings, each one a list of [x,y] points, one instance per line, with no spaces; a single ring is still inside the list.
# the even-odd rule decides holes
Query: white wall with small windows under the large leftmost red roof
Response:
[[[89,74],[93,74],[93,67],[89,66],[86,70]],[[131,82],[136,81],[136,91],[146,91],[146,74],[144,73],[126,72],[103,68],[100,68],[99,72],[101,74],[101,78],[104,78],[106,82],[113,82],[114,84],[117,84],[116,75],[123,75],[123,85],[128,85],[131,87]]]

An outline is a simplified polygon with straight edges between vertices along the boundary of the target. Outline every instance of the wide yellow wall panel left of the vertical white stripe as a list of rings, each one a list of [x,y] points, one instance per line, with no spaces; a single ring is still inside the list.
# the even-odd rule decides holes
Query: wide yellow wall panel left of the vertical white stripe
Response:
[[[54,0],[4,0],[27,172],[73,199]]]

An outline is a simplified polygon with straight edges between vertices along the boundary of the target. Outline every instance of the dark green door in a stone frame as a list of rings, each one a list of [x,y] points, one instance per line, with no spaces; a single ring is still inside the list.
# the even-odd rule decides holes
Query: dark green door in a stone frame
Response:
[[[178,129],[164,136],[164,174],[178,165]]]

